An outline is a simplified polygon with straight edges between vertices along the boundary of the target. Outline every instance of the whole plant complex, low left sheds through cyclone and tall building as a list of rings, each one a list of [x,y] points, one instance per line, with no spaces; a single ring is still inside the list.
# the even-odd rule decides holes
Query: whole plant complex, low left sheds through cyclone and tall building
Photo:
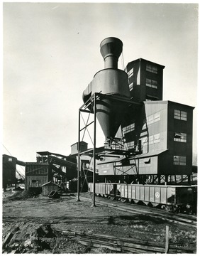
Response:
[[[41,151],[36,162],[24,163],[4,155],[4,186],[15,182],[17,162],[25,166],[26,190],[33,191],[41,191],[44,184],[79,182],[79,177],[83,187],[91,182],[94,170],[101,182],[167,184],[182,176],[191,183],[194,107],[162,99],[164,65],[139,58],[119,70],[122,48],[118,38],[100,44],[104,69],[84,90],[79,109],[79,115],[93,114],[94,122],[84,122],[82,128],[79,116],[79,141],[72,144],[70,156]],[[105,136],[99,149],[96,119]],[[80,133],[91,124],[94,148],[88,149]]]

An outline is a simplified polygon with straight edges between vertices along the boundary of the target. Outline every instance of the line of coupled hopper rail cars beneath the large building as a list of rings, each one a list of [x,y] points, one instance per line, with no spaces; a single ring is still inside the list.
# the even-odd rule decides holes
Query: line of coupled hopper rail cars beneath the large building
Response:
[[[89,183],[93,193],[93,183]],[[197,186],[96,183],[96,196],[123,202],[144,203],[167,211],[196,213]]]

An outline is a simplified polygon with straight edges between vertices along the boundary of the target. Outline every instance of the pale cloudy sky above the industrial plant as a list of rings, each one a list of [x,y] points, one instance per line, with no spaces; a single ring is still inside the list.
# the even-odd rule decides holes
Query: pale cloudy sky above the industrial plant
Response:
[[[195,107],[196,155],[198,4],[4,1],[2,33],[2,154],[70,154],[82,92],[104,68],[99,45],[112,36],[123,41],[119,69],[138,58],[165,65],[163,100]]]

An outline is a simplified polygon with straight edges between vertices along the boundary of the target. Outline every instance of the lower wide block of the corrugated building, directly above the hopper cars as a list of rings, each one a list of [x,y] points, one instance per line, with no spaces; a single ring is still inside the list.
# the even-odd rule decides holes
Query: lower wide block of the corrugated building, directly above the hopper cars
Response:
[[[190,182],[193,109],[170,101],[144,102],[121,132],[127,149],[136,148],[139,141],[142,153],[130,157],[126,165],[123,164],[126,156],[116,161],[105,159],[99,164],[99,174],[140,175],[143,182],[147,175],[159,182],[165,176],[167,182],[168,176],[184,174]],[[130,176],[129,179],[133,178]]]

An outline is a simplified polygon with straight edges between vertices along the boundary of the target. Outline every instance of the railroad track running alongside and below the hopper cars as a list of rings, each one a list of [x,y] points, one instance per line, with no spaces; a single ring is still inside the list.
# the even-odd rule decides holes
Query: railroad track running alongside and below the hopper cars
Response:
[[[89,198],[81,197],[81,200],[88,201]],[[121,203],[118,201],[109,201],[106,198],[98,198],[96,197],[96,206],[108,206],[110,208],[117,208],[118,210],[125,211],[127,213],[131,213],[133,215],[150,215],[151,217],[160,218],[161,220],[167,220],[170,223],[177,223],[179,225],[188,225],[189,227],[196,228],[196,215],[186,215],[181,213],[170,213],[164,210],[150,208],[148,206],[144,206],[143,209],[137,208],[137,205],[131,205],[128,203]]]

